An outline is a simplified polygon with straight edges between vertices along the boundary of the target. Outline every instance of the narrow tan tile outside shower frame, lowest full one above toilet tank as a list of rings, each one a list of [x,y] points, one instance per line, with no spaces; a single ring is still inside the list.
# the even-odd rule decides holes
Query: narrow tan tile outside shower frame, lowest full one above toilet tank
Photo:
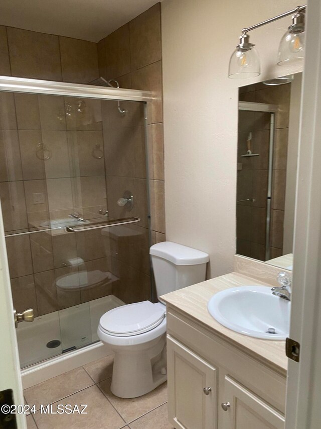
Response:
[[[164,182],[150,181],[151,229],[165,234],[165,191]]]

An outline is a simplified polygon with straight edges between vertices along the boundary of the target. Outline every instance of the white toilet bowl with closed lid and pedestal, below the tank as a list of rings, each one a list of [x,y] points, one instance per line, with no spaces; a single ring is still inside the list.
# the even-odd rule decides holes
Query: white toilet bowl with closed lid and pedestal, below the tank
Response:
[[[98,337],[114,352],[111,391],[144,395],[166,381],[166,307],[143,301],[105,313]]]

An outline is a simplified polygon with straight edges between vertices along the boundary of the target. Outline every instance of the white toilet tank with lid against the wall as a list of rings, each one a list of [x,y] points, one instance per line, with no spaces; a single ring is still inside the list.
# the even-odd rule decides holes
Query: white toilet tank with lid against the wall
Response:
[[[150,247],[157,297],[205,280],[208,253],[164,241]]]

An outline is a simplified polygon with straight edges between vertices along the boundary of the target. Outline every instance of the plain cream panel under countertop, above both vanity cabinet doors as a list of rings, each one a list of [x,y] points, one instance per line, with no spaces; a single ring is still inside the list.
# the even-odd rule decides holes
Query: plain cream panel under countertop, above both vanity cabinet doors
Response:
[[[285,412],[286,377],[211,333],[172,308],[167,316],[168,334],[215,367],[223,367],[241,384],[273,407]]]

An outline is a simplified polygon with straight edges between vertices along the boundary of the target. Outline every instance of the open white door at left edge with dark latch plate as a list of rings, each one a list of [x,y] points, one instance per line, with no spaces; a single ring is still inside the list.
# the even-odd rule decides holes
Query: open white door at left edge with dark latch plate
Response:
[[[17,337],[14,322],[14,308],[10,288],[5,231],[0,203],[0,405],[12,399],[15,405],[24,404]],[[4,392],[5,391],[5,392]],[[3,393],[3,395],[2,395]],[[19,429],[25,429],[24,414],[6,415],[0,412],[0,427],[7,427],[10,418],[17,420]],[[14,425],[8,427],[15,427]]]

